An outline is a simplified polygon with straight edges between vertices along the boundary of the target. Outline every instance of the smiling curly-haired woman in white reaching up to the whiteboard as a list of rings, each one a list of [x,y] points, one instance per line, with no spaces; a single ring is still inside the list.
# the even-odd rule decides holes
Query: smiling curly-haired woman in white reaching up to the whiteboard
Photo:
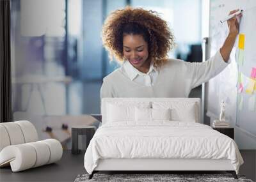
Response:
[[[213,57],[204,63],[187,63],[168,59],[174,37],[154,11],[131,7],[114,11],[103,26],[102,40],[122,66],[104,78],[100,97],[188,97],[191,89],[228,65],[239,33],[236,17],[228,20],[228,27],[225,43]]]

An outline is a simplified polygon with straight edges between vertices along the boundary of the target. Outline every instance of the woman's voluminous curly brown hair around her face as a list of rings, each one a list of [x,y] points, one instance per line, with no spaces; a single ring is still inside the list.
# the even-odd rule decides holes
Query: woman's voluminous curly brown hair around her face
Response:
[[[156,11],[127,6],[109,15],[102,27],[102,42],[113,56],[122,63],[124,61],[124,34],[140,34],[148,43],[148,59],[158,67],[167,61],[167,53],[174,46],[174,36],[167,22],[159,17]]]

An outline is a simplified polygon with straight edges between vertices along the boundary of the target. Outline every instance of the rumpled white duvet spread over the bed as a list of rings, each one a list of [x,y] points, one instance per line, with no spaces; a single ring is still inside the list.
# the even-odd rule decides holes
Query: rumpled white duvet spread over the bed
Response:
[[[238,174],[243,158],[236,142],[199,123],[154,121],[106,123],[97,130],[84,155],[89,174],[99,159],[229,159]]]

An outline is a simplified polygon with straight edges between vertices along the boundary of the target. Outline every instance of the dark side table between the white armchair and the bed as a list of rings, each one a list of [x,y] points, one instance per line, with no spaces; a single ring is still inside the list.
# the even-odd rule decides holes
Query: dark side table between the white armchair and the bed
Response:
[[[88,148],[88,145],[90,143],[90,140],[92,139],[96,127],[95,126],[86,126],[86,125],[81,125],[81,126],[72,126],[72,149],[71,153],[72,154],[79,154],[81,152],[80,149],[78,149],[78,136],[79,135],[86,135],[86,148]]]

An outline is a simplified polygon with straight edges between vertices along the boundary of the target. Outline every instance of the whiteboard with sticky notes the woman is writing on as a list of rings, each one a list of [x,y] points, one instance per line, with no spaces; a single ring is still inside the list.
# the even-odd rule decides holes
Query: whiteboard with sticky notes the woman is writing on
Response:
[[[240,22],[239,34],[245,35],[243,54],[240,54],[239,36],[232,50],[227,68],[209,80],[207,96],[207,116],[218,119],[220,102],[225,100],[226,119],[243,132],[256,137],[256,90],[246,93],[250,83],[252,68],[256,68],[256,1],[255,0],[212,0],[210,3],[210,56],[225,42],[228,35],[227,22],[220,20],[227,17],[229,11],[237,8],[244,10]],[[239,54],[243,59],[239,59]],[[243,62],[241,63],[241,61]],[[239,89],[239,78],[243,77],[243,90]],[[237,82],[239,81],[239,82]],[[256,88],[256,87],[255,87]]]

